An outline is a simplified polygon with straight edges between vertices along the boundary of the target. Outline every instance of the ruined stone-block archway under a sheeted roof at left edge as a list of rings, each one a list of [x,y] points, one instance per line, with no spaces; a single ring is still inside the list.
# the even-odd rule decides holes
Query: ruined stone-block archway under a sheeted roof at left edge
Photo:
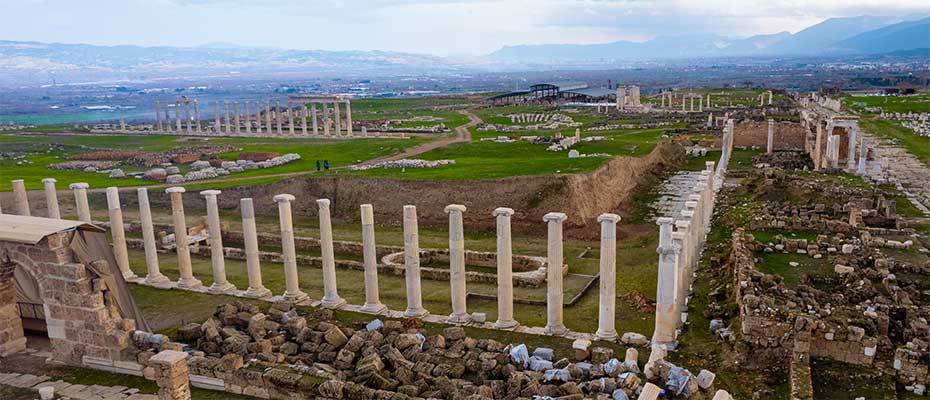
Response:
[[[7,222],[13,217],[0,218]],[[60,221],[61,227],[49,223],[45,230],[37,228],[38,233],[31,237],[0,232],[0,356],[22,350],[26,344],[16,306],[14,271],[19,266],[38,283],[52,359],[71,365],[84,364],[88,358],[119,360],[120,351],[130,344],[135,321],[123,319],[106,293],[107,285],[93,273],[106,264],[95,262],[95,268],[88,268],[71,249],[80,230],[97,228],[55,221]]]

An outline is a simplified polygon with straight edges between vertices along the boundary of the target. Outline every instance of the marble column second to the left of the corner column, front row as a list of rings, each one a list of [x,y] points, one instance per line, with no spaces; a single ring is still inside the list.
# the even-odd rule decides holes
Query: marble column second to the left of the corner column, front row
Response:
[[[562,322],[562,222],[568,216],[551,212],[543,216],[548,225],[548,249],[546,251],[546,333],[561,335],[568,331]]]

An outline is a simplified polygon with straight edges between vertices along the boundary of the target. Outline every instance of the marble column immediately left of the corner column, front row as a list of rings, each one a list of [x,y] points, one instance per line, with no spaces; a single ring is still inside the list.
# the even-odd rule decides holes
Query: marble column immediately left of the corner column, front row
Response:
[[[597,336],[600,340],[617,340],[617,214],[601,214],[600,292],[598,301]]]

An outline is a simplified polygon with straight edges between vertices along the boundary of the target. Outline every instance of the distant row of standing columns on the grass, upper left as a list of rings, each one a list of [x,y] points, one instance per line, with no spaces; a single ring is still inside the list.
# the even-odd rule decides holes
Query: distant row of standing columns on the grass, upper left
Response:
[[[193,119],[190,115],[190,104],[194,105],[194,116]],[[216,134],[226,134],[226,135],[241,135],[241,134],[252,134],[254,127],[255,133],[277,133],[278,135],[284,134],[284,127],[287,127],[288,134],[294,135],[298,129],[295,119],[300,119],[300,131],[303,135],[308,135],[308,126],[312,128],[313,135],[319,135],[319,123],[318,123],[318,112],[317,104],[322,104],[323,113],[322,113],[322,125],[323,125],[323,134],[325,136],[330,136],[334,134],[336,136],[342,136],[343,133],[343,121],[340,117],[339,104],[344,104],[345,107],[345,135],[353,135],[353,124],[352,124],[352,104],[348,99],[339,100],[333,99],[331,101],[322,101],[322,100],[313,100],[310,104],[310,108],[301,105],[299,108],[294,109],[291,102],[287,102],[287,107],[281,107],[281,101],[274,101],[274,108],[272,108],[272,102],[270,100],[265,101],[265,112],[264,112],[264,121],[262,118],[262,104],[260,101],[256,100],[254,102],[252,113],[249,112],[250,101],[243,100],[242,112],[240,113],[240,102],[238,100],[223,101],[222,108],[220,107],[220,101],[213,102],[213,128],[212,132]],[[174,132],[174,133],[203,133],[201,129],[201,119],[200,119],[200,103],[198,100],[188,101],[187,99],[181,101],[175,101],[174,103],[174,124],[171,123],[171,117],[168,112],[169,102],[162,103],[158,100],[155,101],[155,127],[156,130],[161,132]],[[182,117],[181,117],[181,108],[183,105],[185,126],[182,126]],[[232,108],[232,114],[230,114],[230,107]],[[221,112],[222,111],[222,112]],[[162,114],[164,113],[164,122],[162,121]],[[285,122],[285,119],[287,120]],[[264,124],[263,124],[264,122]],[[121,121],[121,130],[125,130],[125,123]],[[331,133],[331,129],[334,129],[335,132]]]

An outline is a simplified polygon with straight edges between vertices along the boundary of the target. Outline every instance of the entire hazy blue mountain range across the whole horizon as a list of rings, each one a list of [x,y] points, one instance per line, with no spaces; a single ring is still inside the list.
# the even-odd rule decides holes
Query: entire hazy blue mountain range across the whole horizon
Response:
[[[606,69],[622,63],[672,59],[869,55],[930,48],[930,18],[917,18],[831,18],[795,34],[780,32],[738,39],[683,35],[645,42],[507,46],[489,55],[459,58],[391,51],[255,48],[232,43],[142,47],[0,41],[0,86],[237,74],[349,77]]]

